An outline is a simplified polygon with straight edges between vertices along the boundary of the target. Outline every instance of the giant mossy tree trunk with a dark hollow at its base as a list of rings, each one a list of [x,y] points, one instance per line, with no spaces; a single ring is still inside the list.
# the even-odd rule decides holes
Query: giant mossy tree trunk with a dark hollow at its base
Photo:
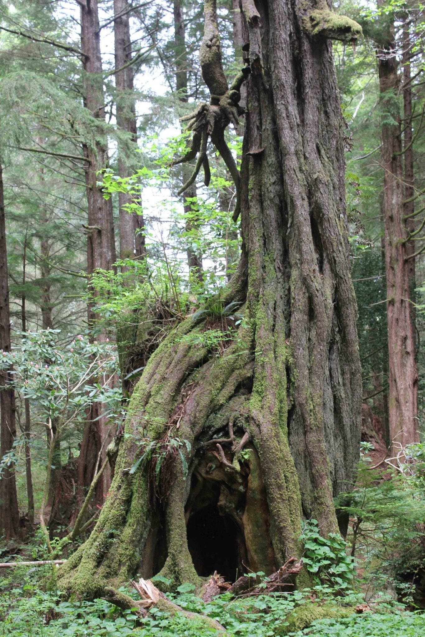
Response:
[[[148,361],[110,496],[89,540],[61,568],[61,590],[97,595],[136,571],[198,582],[214,563],[233,579],[241,564],[271,573],[299,554],[303,515],[324,534],[338,531],[333,496],[354,478],[361,374],[328,36],[355,39],[358,25],[321,29],[313,15],[310,28],[308,4],[261,0],[258,13],[243,6],[252,74],[240,266],[220,296],[222,316],[212,299]],[[238,92],[226,89],[213,0],[205,3],[200,58],[213,96],[212,139],[231,165],[220,126]],[[223,320],[228,304],[243,313],[238,328]],[[234,338],[217,356],[203,334],[224,323]],[[136,468],[143,429],[142,448],[156,441],[156,452]],[[171,443],[177,437],[190,443],[179,447],[187,475]]]

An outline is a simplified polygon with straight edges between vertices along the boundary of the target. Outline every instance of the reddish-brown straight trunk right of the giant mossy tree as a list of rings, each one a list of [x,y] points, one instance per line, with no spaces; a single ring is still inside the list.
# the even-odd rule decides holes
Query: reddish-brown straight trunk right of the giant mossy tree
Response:
[[[385,271],[389,357],[389,435],[393,454],[400,445],[419,441],[417,432],[417,367],[409,293],[407,230],[403,222],[403,154],[401,148],[399,80],[393,33],[377,51],[381,104],[384,111]]]

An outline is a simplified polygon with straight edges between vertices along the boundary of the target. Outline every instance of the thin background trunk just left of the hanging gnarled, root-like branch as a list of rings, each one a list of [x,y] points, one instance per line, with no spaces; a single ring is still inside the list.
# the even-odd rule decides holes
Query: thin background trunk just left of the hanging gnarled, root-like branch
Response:
[[[176,93],[177,98],[183,104],[187,103],[187,50],[185,39],[184,11],[181,0],[174,0],[174,41],[175,41],[175,64],[176,64]],[[184,164],[182,166],[182,181],[187,182],[191,176],[191,168]],[[197,204],[196,204],[196,183],[183,194],[185,231],[192,233],[197,227]],[[203,283],[202,255],[199,250],[191,246],[190,240],[187,245],[187,263],[189,271],[194,274],[199,283]]]

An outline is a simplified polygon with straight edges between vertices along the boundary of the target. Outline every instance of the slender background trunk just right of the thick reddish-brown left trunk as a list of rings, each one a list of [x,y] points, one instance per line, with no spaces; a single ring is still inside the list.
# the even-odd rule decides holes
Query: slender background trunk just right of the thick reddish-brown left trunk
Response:
[[[131,64],[130,39],[130,11],[128,0],[114,0],[113,32],[115,37],[115,88],[117,89],[117,126],[122,131],[129,132],[131,142],[137,144],[136,107],[133,94],[133,66]],[[131,170],[122,150],[118,157],[118,172],[120,177],[128,177]],[[120,215],[120,258],[133,259],[146,255],[143,211],[129,213],[128,204],[134,204],[134,197],[119,192]],[[141,204],[139,201],[138,203]]]

